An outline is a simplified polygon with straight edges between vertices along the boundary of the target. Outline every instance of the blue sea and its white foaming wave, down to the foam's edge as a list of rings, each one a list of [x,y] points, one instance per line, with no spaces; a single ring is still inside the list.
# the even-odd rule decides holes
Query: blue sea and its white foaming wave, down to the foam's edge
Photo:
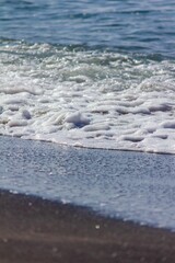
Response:
[[[175,153],[173,0],[0,5],[0,135]]]

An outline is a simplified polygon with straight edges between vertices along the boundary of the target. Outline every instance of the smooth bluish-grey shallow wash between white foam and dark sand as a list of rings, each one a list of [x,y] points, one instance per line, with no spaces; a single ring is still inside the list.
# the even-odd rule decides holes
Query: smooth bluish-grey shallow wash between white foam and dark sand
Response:
[[[0,137],[0,185],[175,230],[175,156]]]

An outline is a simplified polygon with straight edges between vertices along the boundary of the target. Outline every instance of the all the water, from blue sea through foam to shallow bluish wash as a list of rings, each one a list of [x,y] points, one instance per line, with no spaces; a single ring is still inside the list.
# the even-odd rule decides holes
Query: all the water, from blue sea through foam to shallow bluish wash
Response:
[[[49,198],[175,229],[175,2],[0,0],[0,135],[12,138],[5,149],[1,142],[1,187],[30,194],[42,188]],[[91,183],[85,175],[69,181],[66,164],[48,172],[39,161],[33,174],[45,167],[45,175],[27,185],[19,172],[12,180],[14,158],[24,158],[30,144],[45,147],[38,141],[51,142],[72,173]],[[13,144],[21,146],[12,151]],[[27,155],[36,161],[35,150]],[[8,170],[10,157],[15,165]],[[27,160],[19,161],[25,174],[33,169]],[[50,184],[42,183],[52,173]],[[58,173],[66,181],[58,182]]]

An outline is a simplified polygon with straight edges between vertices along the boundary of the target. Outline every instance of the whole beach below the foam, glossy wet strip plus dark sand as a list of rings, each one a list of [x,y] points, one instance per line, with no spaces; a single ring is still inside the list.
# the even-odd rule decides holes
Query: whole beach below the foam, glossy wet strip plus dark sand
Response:
[[[1,263],[174,261],[175,233],[171,225],[174,209],[164,206],[167,201],[168,206],[174,202],[171,194],[173,156],[77,149],[3,136],[0,137],[0,155]],[[156,176],[156,181],[149,174]],[[165,192],[168,181],[172,187]],[[144,184],[150,184],[145,192]],[[117,185],[126,198],[116,195]],[[140,191],[144,194],[142,198]],[[143,197],[152,199],[148,207],[142,207]],[[107,207],[113,203],[112,209],[107,211],[101,199],[105,199]],[[113,209],[121,213],[121,208],[126,215],[130,209],[133,220],[112,217]],[[141,226],[141,214],[147,226]],[[154,218],[156,228],[153,222],[149,227],[149,216]],[[166,222],[166,229],[159,228],[159,222]]]

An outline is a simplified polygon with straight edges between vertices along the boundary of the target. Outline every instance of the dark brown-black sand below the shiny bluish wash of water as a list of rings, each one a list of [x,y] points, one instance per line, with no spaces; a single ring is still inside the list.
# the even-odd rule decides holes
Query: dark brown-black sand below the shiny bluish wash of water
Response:
[[[175,262],[175,233],[0,193],[0,263]]]

